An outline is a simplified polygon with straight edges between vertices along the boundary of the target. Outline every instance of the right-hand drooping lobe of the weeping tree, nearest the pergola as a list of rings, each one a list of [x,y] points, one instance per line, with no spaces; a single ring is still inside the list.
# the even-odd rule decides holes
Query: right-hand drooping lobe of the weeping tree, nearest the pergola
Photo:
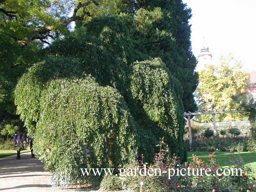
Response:
[[[183,112],[183,90],[160,59],[135,62],[132,65],[131,93],[134,101],[142,107],[149,120],[156,122],[172,153],[178,153],[185,160],[183,147],[185,121]],[[140,113],[140,112],[138,112]],[[158,133],[159,134],[159,133]],[[161,136],[161,135],[159,135]],[[175,149],[175,150],[173,150]]]

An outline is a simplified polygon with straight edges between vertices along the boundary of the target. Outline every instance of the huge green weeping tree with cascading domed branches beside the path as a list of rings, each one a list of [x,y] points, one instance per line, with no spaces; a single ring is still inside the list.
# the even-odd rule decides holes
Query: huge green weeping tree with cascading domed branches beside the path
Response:
[[[115,55],[125,38],[112,39],[109,50],[100,36],[118,32],[102,26],[98,39],[73,33],[55,41],[14,91],[17,112],[35,134],[35,154],[56,185],[99,185],[101,177],[82,177],[79,168],[117,167],[142,150],[150,161],[163,135],[170,152],[186,160],[180,82],[159,58],[130,65],[127,47]]]

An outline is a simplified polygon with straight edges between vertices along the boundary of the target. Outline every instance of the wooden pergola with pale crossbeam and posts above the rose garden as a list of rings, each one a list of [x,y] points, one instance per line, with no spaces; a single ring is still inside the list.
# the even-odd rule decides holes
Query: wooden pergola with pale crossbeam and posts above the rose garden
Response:
[[[189,145],[192,145],[192,130],[191,130],[191,116],[192,115],[207,115],[207,114],[212,114],[212,120],[213,120],[213,132],[214,134],[217,133],[216,130],[216,120],[215,120],[215,114],[220,114],[220,113],[244,113],[246,112],[245,110],[236,110],[236,111],[210,111],[210,112],[189,112],[184,113],[184,116],[188,117],[188,133],[189,133]]]

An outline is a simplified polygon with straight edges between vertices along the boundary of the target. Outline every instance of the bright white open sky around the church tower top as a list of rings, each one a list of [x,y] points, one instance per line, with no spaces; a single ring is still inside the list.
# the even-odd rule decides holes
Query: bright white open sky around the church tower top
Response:
[[[256,71],[256,0],[183,0],[192,9],[192,51],[197,57],[203,36],[214,63],[231,53],[244,70]]]

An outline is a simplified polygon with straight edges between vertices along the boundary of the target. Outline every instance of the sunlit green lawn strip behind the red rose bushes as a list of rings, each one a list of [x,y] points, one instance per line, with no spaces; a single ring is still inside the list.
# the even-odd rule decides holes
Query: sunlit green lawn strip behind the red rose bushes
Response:
[[[205,163],[208,162],[209,160],[209,154],[212,152],[188,152],[188,162],[192,161],[192,154],[196,155],[199,159],[202,159],[205,161]],[[215,152],[215,159],[219,160],[220,166],[221,167],[226,167],[228,166],[228,159],[229,156],[234,156],[234,155],[240,155],[244,159],[245,164],[250,164],[252,167],[252,170],[256,172],[256,153],[255,152],[235,152],[230,153],[230,152]]]

